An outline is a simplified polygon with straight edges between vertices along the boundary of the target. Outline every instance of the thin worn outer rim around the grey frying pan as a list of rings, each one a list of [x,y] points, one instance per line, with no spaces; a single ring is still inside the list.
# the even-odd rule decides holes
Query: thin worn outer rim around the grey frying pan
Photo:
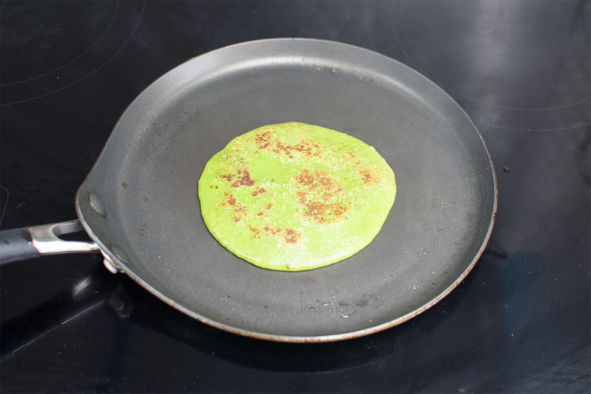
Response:
[[[386,330],[387,328],[391,328],[394,327],[395,325],[399,325],[401,323],[404,323],[405,321],[410,320],[411,318],[423,313],[424,311],[428,310],[429,308],[431,308],[433,305],[437,304],[437,302],[441,301],[441,299],[443,299],[444,297],[446,297],[450,292],[453,291],[454,288],[456,288],[462,281],[463,279],[466,278],[466,276],[468,275],[468,273],[470,271],[472,271],[473,267],[476,265],[476,262],[478,262],[478,260],[480,259],[480,256],[482,256],[482,253],[484,252],[486,245],[490,239],[491,233],[492,233],[492,228],[493,228],[493,224],[495,223],[495,218],[496,218],[496,210],[498,207],[498,184],[497,184],[497,178],[496,178],[496,173],[495,173],[495,168],[493,166],[493,162],[492,162],[492,158],[490,155],[490,152],[488,150],[488,147],[486,146],[486,143],[484,141],[484,139],[482,138],[482,134],[480,133],[480,131],[478,130],[478,128],[476,128],[476,126],[474,125],[472,119],[470,119],[470,117],[467,115],[467,113],[465,112],[465,110],[456,102],[456,100],[453,99],[453,97],[451,97],[445,90],[443,90],[439,85],[437,85],[436,83],[434,83],[432,80],[428,79],[428,77],[424,76],[423,74],[419,73],[417,70],[412,69],[409,66],[406,66],[405,64],[401,63],[398,60],[395,60],[393,58],[390,58],[388,56],[385,56],[383,54],[377,53],[375,51],[366,49],[366,48],[362,48],[362,47],[358,47],[356,45],[351,45],[351,44],[345,44],[345,43],[340,43],[338,41],[330,41],[330,40],[320,40],[320,39],[316,39],[316,38],[270,38],[270,39],[266,39],[266,40],[254,40],[254,41],[245,41],[243,43],[236,43],[236,44],[232,44],[232,45],[228,45],[226,47],[222,47],[222,48],[217,48],[215,50],[212,51],[208,51],[206,53],[203,53],[199,56],[195,56],[195,57],[191,57],[189,58],[189,60],[179,64],[178,66],[174,67],[173,69],[167,71],[167,73],[165,73],[164,75],[171,73],[173,70],[178,69],[178,67],[183,66],[184,64],[186,64],[187,62],[193,60],[194,58],[197,57],[201,57],[204,56],[206,54],[209,53],[213,53],[215,51],[220,51],[220,50],[225,50],[227,48],[231,48],[231,47],[238,47],[238,46],[242,46],[242,45],[249,45],[249,44],[255,44],[255,43],[268,43],[268,42],[278,42],[278,41],[292,41],[292,42],[302,42],[302,41],[311,41],[311,42],[323,42],[323,43],[328,43],[328,44],[336,44],[336,45],[344,45],[346,47],[350,47],[353,48],[355,50],[361,50],[361,51],[365,51],[366,53],[371,53],[372,56],[379,56],[382,57],[384,59],[387,59],[388,61],[394,61],[395,63],[397,63],[399,66],[404,67],[405,69],[412,71],[414,74],[416,74],[418,77],[420,77],[423,80],[427,80],[432,87],[436,87],[437,90],[439,90],[439,93],[443,93],[443,95],[445,96],[445,98],[447,100],[450,100],[451,103],[453,103],[453,106],[456,109],[459,109],[462,113],[463,116],[465,116],[466,120],[469,121],[469,124],[472,126],[473,130],[476,131],[480,142],[482,142],[485,151],[488,155],[488,164],[489,164],[489,168],[491,170],[491,175],[492,175],[492,185],[493,185],[493,198],[492,198],[492,213],[491,213],[491,219],[490,219],[490,223],[488,226],[488,229],[486,231],[486,236],[483,238],[482,243],[480,245],[480,248],[478,249],[478,253],[476,253],[475,257],[472,259],[472,261],[469,263],[469,265],[467,266],[467,268],[465,269],[465,271],[463,271],[459,277],[451,284],[449,285],[446,289],[444,289],[444,291],[440,292],[439,295],[437,295],[436,297],[434,297],[433,299],[431,299],[431,301],[427,302],[426,304],[422,305],[419,308],[416,308],[413,311],[408,312],[405,315],[402,315],[398,318],[395,318],[394,320],[388,321],[386,323],[382,323],[382,324],[378,324],[378,325],[374,325],[372,327],[368,327],[368,328],[363,328],[361,330],[355,330],[355,331],[350,331],[350,332],[346,332],[346,333],[338,333],[338,334],[326,334],[326,335],[318,335],[318,336],[285,336],[285,335],[280,335],[280,334],[267,334],[267,333],[259,333],[256,331],[250,331],[250,330],[243,330],[241,328],[238,327],[233,327],[224,323],[219,323],[215,320],[212,320],[210,318],[207,318],[197,312],[194,312],[192,310],[190,310],[187,307],[184,307],[181,304],[178,304],[178,302],[174,301],[171,298],[168,298],[167,296],[165,296],[164,294],[162,294],[160,291],[158,291],[157,289],[155,289],[152,285],[148,284],[147,282],[144,281],[144,279],[142,279],[139,275],[137,275],[135,272],[133,272],[128,266],[125,265],[124,262],[121,261],[121,259],[119,259],[119,257],[113,253],[112,250],[110,250],[106,245],[104,245],[100,239],[98,238],[98,236],[95,234],[95,232],[93,232],[93,230],[90,228],[90,225],[86,222],[85,217],[82,213],[82,209],[80,207],[80,201],[82,198],[85,198],[85,196],[82,196],[82,192],[83,192],[83,186],[86,184],[87,179],[90,177],[90,174],[92,174],[92,172],[95,170],[95,167],[98,165],[98,162],[100,160],[100,158],[103,156],[103,153],[105,152],[106,146],[109,142],[109,140],[111,139],[111,137],[113,136],[113,133],[116,131],[116,129],[118,128],[119,123],[121,122],[121,120],[124,118],[124,116],[126,115],[126,113],[128,112],[129,108],[131,108],[132,105],[134,105],[134,103],[138,100],[138,98],[140,96],[142,96],[144,94],[144,92],[146,92],[147,90],[149,90],[155,83],[157,83],[158,80],[161,79],[161,77],[158,77],[158,79],[156,79],[154,82],[152,82],[151,84],[149,84],[144,90],[142,90],[141,93],[139,93],[139,95],[137,97],[135,97],[134,100],[132,100],[131,103],[129,103],[129,105],[127,106],[127,108],[124,110],[124,112],[122,112],[121,116],[119,117],[118,121],[115,123],[115,126],[113,126],[113,129],[105,143],[105,145],[103,146],[98,158],[96,159],[95,164],[93,165],[93,167],[91,168],[91,170],[89,171],[89,173],[86,175],[85,180],[83,181],[82,185],[80,185],[80,188],[78,189],[77,193],[76,193],[76,199],[75,199],[75,205],[76,205],[76,213],[77,216],[79,217],[80,222],[82,223],[82,226],[84,227],[84,229],[86,230],[86,232],[88,233],[88,235],[91,237],[91,239],[93,239],[100,247],[103,255],[107,255],[109,256],[109,258],[114,262],[114,265],[116,266],[116,268],[119,269],[120,272],[124,272],[126,273],[126,275],[128,275],[130,278],[132,278],[135,282],[137,282],[139,285],[141,285],[143,288],[147,289],[149,292],[151,292],[151,294],[155,295],[157,298],[160,298],[162,301],[164,301],[166,304],[170,305],[173,308],[176,308],[177,310],[180,310],[181,312],[184,312],[185,314],[189,315],[190,317],[195,318],[198,321],[201,321],[204,324],[208,324],[211,325],[212,327],[216,327],[219,328],[221,330],[224,331],[228,331],[230,333],[234,333],[234,334],[239,334],[241,336],[246,336],[246,337],[252,337],[252,338],[258,338],[258,339],[262,339],[262,340],[270,340],[270,341],[280,341],[280,342],[287,342],[287,343],[320,343],[320,342],[330,342],[330,341],[339,341],[339,340],[346,340],[346,339],[350,339],[350,338],[356,338],[356,337],[361,337],[361,336],[366,336],[369,334],[373,334],[373,333],[377,333],[378,331],[382,331],[382,330]],[[486,169],[488,170],[488,168]]]

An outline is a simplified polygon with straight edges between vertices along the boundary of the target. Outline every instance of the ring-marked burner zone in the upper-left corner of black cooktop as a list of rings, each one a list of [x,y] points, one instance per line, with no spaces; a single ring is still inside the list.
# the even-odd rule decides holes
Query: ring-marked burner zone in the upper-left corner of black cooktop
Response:
[[[144,2],[2,6],[2,26],[10,29],[2,28],[0,105],[47,96],[92,75],[131,40],[144,12]]]

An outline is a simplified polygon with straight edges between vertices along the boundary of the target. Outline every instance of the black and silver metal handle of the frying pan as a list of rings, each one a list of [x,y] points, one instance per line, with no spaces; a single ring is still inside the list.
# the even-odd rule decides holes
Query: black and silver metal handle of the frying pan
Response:
[[[80,220],[2,230],[0,264],[34,259],[41,255],[98,252],[100,248],[94,242],[67,241],[59,238],[60,235],[82,230]]]

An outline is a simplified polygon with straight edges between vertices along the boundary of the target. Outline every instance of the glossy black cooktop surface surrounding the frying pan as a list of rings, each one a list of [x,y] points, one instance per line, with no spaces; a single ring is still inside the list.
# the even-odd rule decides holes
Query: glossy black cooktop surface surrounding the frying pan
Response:
[[[488,248],[407,323],[327,344],[216,330],[94,255],[2,266],[2,392],[582,392],[590,376],[590,2],[11,2],[0,16],[1,228],[74,219],[153,80],[242,41],[359,45],[420,71],[488,145]]]

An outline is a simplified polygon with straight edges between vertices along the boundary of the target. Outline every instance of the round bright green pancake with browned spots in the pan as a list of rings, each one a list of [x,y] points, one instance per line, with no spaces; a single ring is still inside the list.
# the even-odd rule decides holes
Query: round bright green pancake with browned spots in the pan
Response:
[[[305,123],[236,137],[199,179],[203,220],[236,256],[281,271],[346,259],[378,234],[394,172],[365,142]]]

